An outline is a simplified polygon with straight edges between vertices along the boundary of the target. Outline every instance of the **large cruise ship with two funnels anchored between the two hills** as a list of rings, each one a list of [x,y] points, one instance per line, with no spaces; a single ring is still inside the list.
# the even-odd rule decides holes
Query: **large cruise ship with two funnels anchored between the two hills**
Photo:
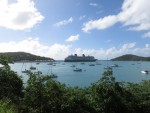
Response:
[[[65,58],[65,62],[94,62],[97,59],[95,59],[93,56],[85,56],[84,54],[82,56],[70,55]]]

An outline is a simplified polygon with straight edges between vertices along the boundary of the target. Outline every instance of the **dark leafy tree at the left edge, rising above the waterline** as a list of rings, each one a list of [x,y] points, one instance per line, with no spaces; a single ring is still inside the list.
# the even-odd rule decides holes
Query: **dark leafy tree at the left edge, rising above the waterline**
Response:
[[[11,70],[8,62],[7,57],[0,56],[0,100],[7,98],[19,107],[23,97],[23,82],[17,73]]]

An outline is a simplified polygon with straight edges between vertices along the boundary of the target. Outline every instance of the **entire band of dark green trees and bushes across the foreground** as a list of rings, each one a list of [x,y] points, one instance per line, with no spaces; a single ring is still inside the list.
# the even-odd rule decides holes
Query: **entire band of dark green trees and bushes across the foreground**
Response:
[[[90,87],[78,88],[36,72],[23,85],[5,57],[0,63],[0,113],[150,113],[150,80],[120,83],[107,70]]]

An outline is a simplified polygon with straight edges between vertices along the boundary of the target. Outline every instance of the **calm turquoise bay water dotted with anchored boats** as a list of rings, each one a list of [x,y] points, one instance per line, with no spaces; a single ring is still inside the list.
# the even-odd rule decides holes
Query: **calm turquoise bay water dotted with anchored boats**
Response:
[[[97,65],[101,64],[101,65]],[[111,66],[113,64],[118,64],[119,67],[113,68],[113,75],[116,77],[117,81],[125,81],[125,82],[141,82],[142,80],[150,79],[150,74],[142,74],[141,70],[149,70],[150,71],[150,62],[134,62],[134,61],[98,61],[92,62],[95,66],[89,66],[91,62],[85,62],[81,64],[78,63],[64,63],[64,62],[56,62],[56,66],[47,65],[47,62],[42,62],[40,64],[36,63],[26,63],[26,68],[29,69],[30,66],[36,66],[37,70],[42,71],[43,75],[52,73],[56,74],[58,78],[56,80],[61,83],[65,83],[70,86],[79,86],[79,87],[87,87],[90,86],[91,83],[94,83],[100,79],[104,72],[104,68],[107,66]],[[81,68],[82,72],[73,71],[72,65]],[[23,63],[15,63],[11,64],[11,69],[16,71],[19,75],[23,76],[24,81],[28,79],[26,74],[21,73],[21,71],[25,68]]]

